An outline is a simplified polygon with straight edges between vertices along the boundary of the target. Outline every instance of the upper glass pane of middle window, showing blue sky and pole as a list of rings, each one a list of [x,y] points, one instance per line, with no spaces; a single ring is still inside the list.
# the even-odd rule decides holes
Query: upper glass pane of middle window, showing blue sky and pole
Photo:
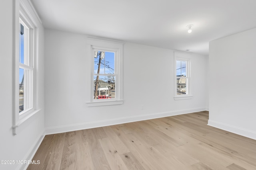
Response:
[[[115,53],[108,51],[94,51],[94,74],[115,73]]]

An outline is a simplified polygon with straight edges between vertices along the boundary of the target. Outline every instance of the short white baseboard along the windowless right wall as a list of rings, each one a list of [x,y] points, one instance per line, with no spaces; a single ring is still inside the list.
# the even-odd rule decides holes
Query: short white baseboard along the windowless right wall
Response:
[[[243,129],[243,128],[235,127],[232,125],[227,125],[227,124],[220,123],[217,121],[212,121],[210,119],[208,120],[207,125],[256,140],[256,132],[255,131],[250,131],[248,129]]]

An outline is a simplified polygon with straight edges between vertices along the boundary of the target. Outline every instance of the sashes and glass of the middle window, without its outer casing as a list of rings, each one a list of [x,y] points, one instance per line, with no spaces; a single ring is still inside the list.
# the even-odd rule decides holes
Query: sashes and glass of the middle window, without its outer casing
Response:
[[[116,53],[94,49],[94,100],[116,98]]]

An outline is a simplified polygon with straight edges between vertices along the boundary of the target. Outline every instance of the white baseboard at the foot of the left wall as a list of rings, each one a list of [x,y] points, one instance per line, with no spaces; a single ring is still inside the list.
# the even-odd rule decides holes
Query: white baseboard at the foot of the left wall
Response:
[[[24,156],[24,158],[22,160],[32,160],[33,159],[33,157],[36,154],[36,151],[38,150],[39,146],[41,145],[44,137],[45,137],[45,135],[42,135],[39,137],[39,139],[36,141],[35,145],[33,145],[30,148],[30,150],[28,150],[27,154]],[[23,169],[26,170],[28,168],[28,166],[29,166],[29,164],[19,164],[18,167],[16,168],[16,170],[23,170]]]

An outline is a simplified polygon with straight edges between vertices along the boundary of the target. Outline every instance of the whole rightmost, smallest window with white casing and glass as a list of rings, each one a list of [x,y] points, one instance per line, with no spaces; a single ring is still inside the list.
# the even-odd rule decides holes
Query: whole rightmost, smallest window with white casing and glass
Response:
[[[174,53],[174,99],[190,99],[190,54]]]

